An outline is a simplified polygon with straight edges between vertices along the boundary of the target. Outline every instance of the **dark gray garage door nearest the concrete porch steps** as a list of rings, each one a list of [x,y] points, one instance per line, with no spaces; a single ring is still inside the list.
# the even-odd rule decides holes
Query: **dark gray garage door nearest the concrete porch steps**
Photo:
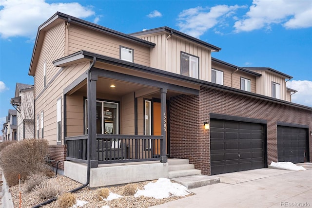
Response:
[[[210,120],[211,174],[265,167],[262,124]]]

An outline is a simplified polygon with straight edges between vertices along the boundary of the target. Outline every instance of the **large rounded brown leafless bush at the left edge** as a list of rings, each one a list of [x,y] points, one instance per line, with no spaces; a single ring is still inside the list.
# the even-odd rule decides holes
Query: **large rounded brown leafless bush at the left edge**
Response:
[[[43,159],[48,150],[48,142],[44,139],[25,139],[6,146],[0,152],[0,166],[9,186],[19,183],[32,172],[43,171]]]

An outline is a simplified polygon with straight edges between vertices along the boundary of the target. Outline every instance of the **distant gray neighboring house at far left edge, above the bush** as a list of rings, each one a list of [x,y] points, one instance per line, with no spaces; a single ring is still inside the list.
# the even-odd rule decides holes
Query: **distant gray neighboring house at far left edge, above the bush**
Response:
[[[17,140],[17,111],[9,110],[6,116],[5,123],[3,123],[3,141]]]

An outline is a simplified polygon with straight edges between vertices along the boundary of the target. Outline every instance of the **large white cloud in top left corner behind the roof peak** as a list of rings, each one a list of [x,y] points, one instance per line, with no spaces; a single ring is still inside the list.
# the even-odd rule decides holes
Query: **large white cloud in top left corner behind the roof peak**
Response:
[[[39,25],[57,11],[77,18],[95,15],[91,7],[84,7],[76,2],[47,3],[45,0],[0,0],[0,8],[0,35],[2,38],[35,38]]]

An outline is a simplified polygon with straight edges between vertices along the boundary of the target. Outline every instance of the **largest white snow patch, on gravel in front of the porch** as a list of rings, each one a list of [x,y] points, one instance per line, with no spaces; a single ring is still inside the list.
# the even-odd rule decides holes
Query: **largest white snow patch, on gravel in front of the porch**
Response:
[[[135,196],[154,197],[156,199],[170,196],[186,196],[190,191],[181,184],[172,183],[168,178],[159,178],[155,183],[148,183],[144,190],[137,190]]]

